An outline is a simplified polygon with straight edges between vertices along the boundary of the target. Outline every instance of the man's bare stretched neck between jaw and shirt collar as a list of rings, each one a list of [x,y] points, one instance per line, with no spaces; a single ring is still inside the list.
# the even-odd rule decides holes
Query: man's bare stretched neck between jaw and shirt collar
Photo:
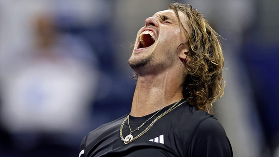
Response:
[[[139,76],[131,115],[141,117],[153,113],[183,98],[183,77],[179,70],[159,75]]]

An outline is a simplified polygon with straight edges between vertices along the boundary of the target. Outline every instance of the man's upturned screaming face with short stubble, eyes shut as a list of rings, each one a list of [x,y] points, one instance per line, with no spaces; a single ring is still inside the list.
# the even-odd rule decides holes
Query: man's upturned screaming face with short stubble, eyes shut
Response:
[[[182,24],[186,16],[179,12]],[[186,29],[189,28],[186,26]],[[137,74],[160,73],[179,61],[177,48],[187,41],[173,10],[155,13],[140,28],[129,65]]]

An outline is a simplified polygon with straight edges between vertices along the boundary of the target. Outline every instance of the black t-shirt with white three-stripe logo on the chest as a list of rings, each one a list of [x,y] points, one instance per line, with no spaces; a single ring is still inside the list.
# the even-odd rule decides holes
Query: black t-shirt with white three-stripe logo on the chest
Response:
[[[150,119],[135,137],[142,132],[169,105]],[[154,112],[155,113],[155,112]],[[139,127],[154,113],[130,116],[132,130]],[[119,135],[121,117],[88,133],[80,147],[80,157],[232,157],[232,148],[222,125],[205,111],[197,110],[186,102],[160,118],[135,141],[125,144]],[[130,133],[128,122],[123,136]]]

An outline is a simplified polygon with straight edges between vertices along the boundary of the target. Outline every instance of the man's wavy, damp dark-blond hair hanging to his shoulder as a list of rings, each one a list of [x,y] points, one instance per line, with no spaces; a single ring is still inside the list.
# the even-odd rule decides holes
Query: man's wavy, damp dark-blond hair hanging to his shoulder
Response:
[[[171,3],[188,41],[189,52],[186,64],[186,79],[183,97],[197,109],[212,112],[212,103],[223,95],[225,81],[222,76],[224,65],[220,35],[209,25],[203,15],[190,4]],[[181,23],[178,12],[187,16],[188,32]]]

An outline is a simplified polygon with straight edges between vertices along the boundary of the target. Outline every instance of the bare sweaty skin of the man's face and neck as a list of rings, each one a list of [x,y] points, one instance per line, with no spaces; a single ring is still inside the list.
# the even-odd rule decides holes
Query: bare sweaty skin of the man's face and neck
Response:
[[[182,23],[186,16],[179,12]],[[187,26],[186,26],[187,27]],[[155,43],[141,48],[140,34],[149,30],[154,33]],[[187,56],[187,38],[173,10],[164,10],[145,20],[140,28],[129,64],[138,74],[131,115],[144,116],[183,98],[182,74]],[[174,40],[175,39],[175,40]]]

